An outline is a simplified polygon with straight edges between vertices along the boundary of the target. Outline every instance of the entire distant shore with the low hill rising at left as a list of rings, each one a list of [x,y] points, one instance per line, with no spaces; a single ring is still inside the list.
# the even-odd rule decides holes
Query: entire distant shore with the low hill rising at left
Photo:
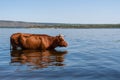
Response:
[[[0,20],[0,28],[120,28],[120,24],[65,24]]]

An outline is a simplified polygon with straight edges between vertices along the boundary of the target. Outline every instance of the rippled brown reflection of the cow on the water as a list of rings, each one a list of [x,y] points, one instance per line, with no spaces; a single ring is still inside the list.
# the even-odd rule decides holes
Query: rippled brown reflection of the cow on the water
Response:
[[[49,66],[64,66],[64,57],[67,51],[56,50],[14,50],[11,51],[11,64],[46,68]]]

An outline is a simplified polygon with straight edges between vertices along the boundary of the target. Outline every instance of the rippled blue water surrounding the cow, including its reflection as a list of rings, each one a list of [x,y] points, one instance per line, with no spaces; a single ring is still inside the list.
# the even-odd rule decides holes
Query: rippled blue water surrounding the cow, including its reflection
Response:
[[[64,34],[54,51],[10,51],[16,32]],[[119,80],[120,29],[0,29],[0,80]]]

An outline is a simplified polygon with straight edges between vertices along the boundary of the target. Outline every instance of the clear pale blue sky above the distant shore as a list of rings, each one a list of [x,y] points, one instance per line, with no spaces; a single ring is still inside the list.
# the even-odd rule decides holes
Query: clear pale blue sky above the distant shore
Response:
[[[120,0],[0,0],[0,20],[119,24]]]

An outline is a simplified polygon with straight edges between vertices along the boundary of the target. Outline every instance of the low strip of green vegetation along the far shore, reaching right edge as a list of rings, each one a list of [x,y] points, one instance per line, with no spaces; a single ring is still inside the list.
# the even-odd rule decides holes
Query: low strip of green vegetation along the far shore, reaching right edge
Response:
[[[30,28],[120,28],[120,24],[57,24],[29,26]]]

